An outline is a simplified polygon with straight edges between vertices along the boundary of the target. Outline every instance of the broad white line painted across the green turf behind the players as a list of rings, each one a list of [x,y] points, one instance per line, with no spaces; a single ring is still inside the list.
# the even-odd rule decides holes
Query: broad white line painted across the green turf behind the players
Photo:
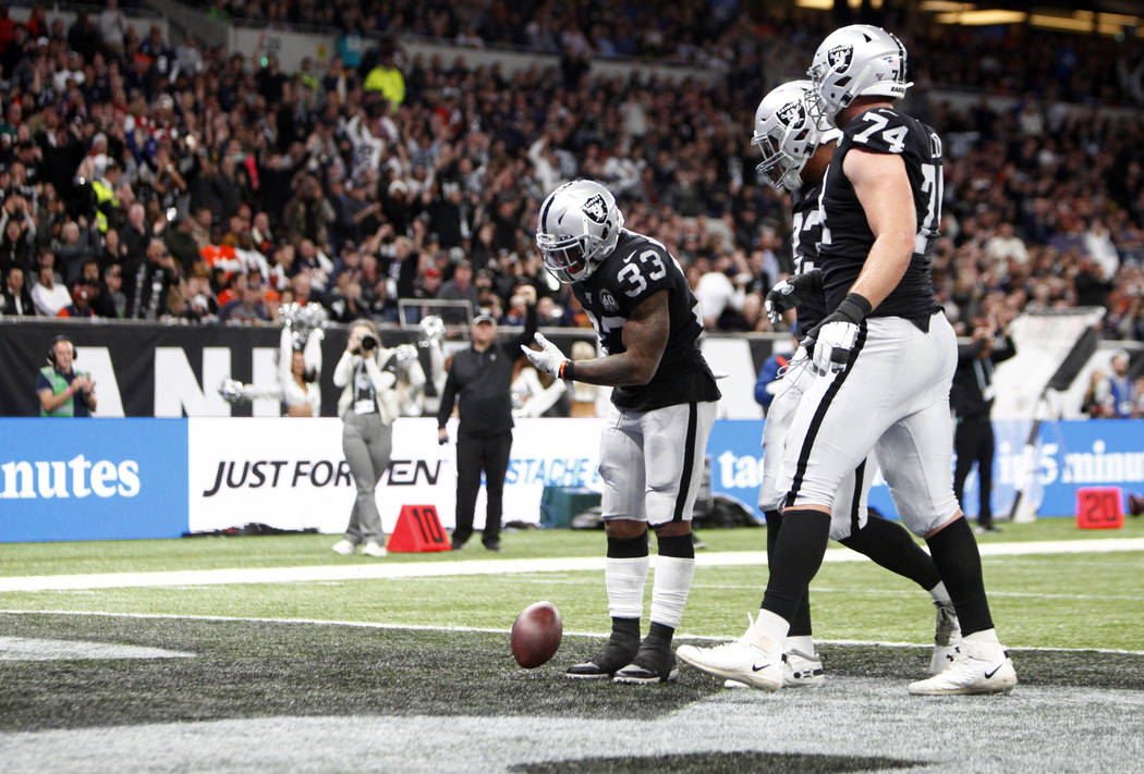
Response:
[[[1144,538],[1111,537],[1087,541],[1042,541],[1031,543],[987,543],[980,546],[983,557],[1012,557],[1047,553],[1107,553],[1144,551]],[[868,561],[848,549],[829,549],[824,561]],[[654,557],[652,557],[654,561]],[[761,566],[766,564],[762,551],[715,551],[696,557],[699,567]],[[463,575],[503,575],[509,573],[555,573],[603,570],[603,557],[553,559],[478,559],[464,561],[379,560],[360,565],[323,565],[311,567],[245,567],[232,569],[183,569],[153,573],[102,573],[90,575],[27,575],[0,577],[0,593],[19,591],[77,591],[122,589],[129,587],[196,587],[240,583],[299,583],[316,581],[363,581],[406,577],[456,577]]]

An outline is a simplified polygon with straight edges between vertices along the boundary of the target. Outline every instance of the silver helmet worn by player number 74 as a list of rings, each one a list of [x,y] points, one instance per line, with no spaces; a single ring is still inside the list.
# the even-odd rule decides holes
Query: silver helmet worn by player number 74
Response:
[[[906,89],[906,47],[898,38],[871,24],[851,24],[826,35],[810,70],[815,82],[813,107],[819,126],[835,117],[855,97],[900,99]]]

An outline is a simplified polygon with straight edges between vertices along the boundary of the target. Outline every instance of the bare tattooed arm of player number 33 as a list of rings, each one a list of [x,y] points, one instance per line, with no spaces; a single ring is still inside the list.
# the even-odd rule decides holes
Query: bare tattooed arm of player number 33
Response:
[[[609,386],[646,384],[656,375],[667,346],[670,317],[667,290],[645,298],[623,324],[625,352],[575,361],[575,381]]]

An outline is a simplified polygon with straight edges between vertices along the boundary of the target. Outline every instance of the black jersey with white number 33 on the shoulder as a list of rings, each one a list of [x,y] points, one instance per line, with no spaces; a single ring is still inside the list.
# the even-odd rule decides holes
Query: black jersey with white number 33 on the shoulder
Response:
[[[654,239],[623,230],[615,249],[587,278],[572,285],[572,292],[599,336],[604,354],[627,351],[625,324],[639,304],[660,290],[667,290],[667,346],[648,384],[612,390],[612,402],[626,410],[648,412],[721,397],[715,377],[699,351],[699,334],[704,329],[699,302],[666,247]]]

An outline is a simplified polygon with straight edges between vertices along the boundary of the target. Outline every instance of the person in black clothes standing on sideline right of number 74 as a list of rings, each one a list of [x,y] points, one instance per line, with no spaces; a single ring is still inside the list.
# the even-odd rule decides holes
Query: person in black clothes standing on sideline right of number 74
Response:
[[[974,341],[958,346],[958,370],[953,375],[950,402],[958,416],[953,434],[953,449],[958,463],[953,473],[953,492],[958,502],[964,500],[966,478],[977,463],[977,511],[978,532],[1000,532],[993,526],[993,366],[1017,353],[1012,340],[1003,334],[1001,346],[994,348],[995,330],[991,326],[979,326],[974,330]]]

